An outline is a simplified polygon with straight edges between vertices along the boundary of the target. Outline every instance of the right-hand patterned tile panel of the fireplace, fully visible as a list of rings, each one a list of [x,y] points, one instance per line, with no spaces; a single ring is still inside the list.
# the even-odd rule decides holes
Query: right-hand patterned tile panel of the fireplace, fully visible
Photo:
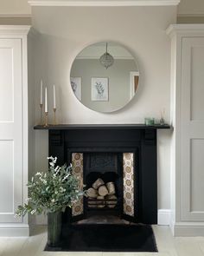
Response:
[[[123,154],[124,214],[134,216],[134,154]]]

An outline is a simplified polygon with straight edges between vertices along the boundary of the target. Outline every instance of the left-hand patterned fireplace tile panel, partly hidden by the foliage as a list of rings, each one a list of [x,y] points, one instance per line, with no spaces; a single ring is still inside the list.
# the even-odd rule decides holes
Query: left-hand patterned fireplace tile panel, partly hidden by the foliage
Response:
[[[73,174],[80,181],[80,188],[83,188],[83,154],[82,153],[73,153],[72,154],[72,164],[73,164]],[[84,211],[83,198],[76,202],[72,208],[72,215],[78,216]]]

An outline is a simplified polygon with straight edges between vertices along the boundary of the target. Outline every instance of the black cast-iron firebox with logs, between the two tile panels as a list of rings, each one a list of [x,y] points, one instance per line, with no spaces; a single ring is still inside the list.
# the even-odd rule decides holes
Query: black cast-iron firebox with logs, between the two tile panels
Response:
[[[86,216],[120,216],[123,194],[121,154],[86,153],[84,163],[84,181],[87,190],[84,206]]]

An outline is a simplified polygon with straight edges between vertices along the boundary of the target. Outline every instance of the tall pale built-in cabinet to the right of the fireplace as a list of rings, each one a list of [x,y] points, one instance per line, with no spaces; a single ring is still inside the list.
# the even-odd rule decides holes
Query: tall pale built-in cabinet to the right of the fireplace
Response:
[[[172,214],[175,235],[204,235],[204,25],[171,25]]]

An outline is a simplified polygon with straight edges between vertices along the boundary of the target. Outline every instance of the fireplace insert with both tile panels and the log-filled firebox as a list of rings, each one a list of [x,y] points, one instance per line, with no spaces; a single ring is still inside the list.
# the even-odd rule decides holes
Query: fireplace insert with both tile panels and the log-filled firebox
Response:
[[[72,162],[73,173],[87,191],[73,206],[73,220],[116,216],[136,222],[135,153],[73,153]]]

